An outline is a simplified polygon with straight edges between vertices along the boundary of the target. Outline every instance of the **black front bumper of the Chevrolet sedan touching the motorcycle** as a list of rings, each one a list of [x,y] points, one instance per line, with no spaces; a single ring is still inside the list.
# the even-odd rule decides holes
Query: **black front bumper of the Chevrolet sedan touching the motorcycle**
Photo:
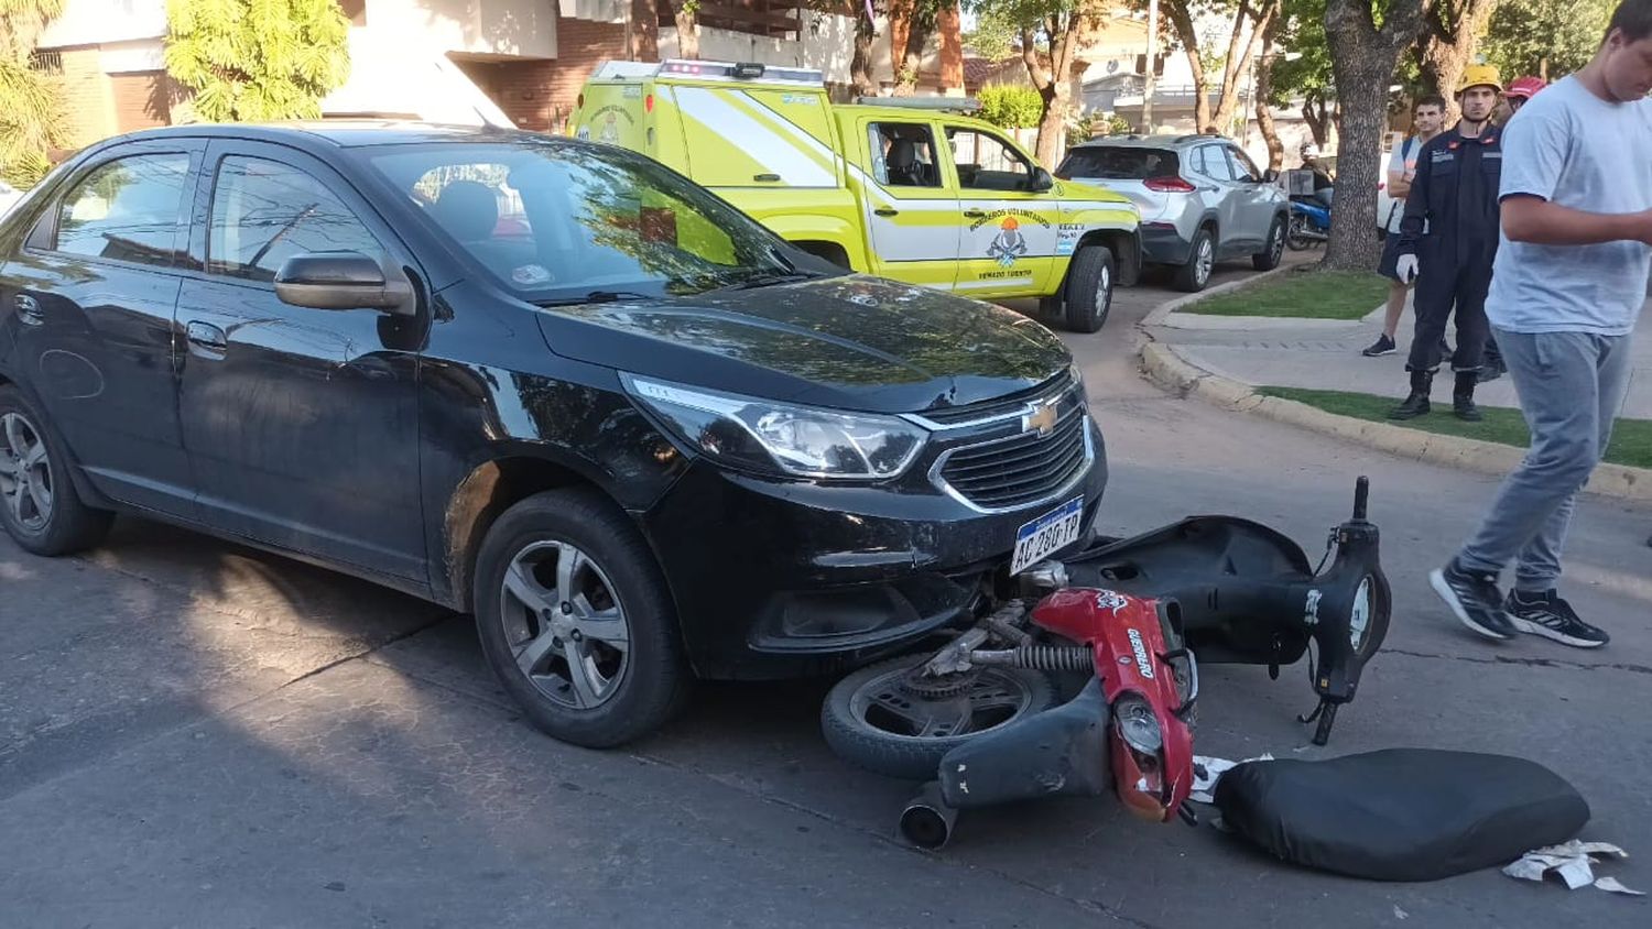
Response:
[[[1100,429],[1057,493],[980,512],[937,488],[765,480],[697,462],[639,513],[677,604],[689,660],[707,678],[836,673],[973,620],[1016,530],[1082,497],[1077,551],[1107,485]],[[928,490],[928,492],[923,492]]]

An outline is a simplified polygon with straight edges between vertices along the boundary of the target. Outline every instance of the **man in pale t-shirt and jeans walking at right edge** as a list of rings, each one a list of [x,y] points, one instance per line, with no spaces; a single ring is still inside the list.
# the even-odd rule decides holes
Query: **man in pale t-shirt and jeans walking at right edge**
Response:
[[[1622,406],[1652,272],[1652,0],[1624,0],[1594,59],[1503,135],[1502,241],[1485,302],[1531,450],[1450,563],[1429,576],[1469,629],[1594,648],[1556,591],[1573,498]],[[1515,566],[1505,599],[1498,574]]]

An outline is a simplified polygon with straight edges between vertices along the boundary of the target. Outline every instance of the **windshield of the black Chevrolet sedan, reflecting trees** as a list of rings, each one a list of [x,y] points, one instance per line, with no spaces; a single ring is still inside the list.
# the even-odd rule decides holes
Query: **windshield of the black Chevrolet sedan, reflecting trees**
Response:
[[[686,295],[796,274],[770,231],[629,152],[449,142],[372,149],[368,162],[527,300]]]

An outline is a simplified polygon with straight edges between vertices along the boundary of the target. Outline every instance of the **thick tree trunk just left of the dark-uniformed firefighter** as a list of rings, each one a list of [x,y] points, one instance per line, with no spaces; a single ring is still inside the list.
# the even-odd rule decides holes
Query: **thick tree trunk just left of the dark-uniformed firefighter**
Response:
[[[1371,0],[1327,0],[1325,35],[1341,109],[1336,152],[1336,208],[1325,266],[1371,271],[1381,246],[1376,239],[1376,177],[1388,129],[1388,84],[1406,46],[1422,30],[1424,0],[1391,0],[1383,28]]]

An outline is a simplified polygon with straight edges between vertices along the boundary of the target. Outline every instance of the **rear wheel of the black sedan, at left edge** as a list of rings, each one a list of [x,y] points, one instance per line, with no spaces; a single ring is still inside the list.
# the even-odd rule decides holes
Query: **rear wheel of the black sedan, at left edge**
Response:
[[[46,558],[93,548],[114,513],[88,507],[73,464],[46,417],[13,386],[0,386],[0,525],[23,549]]]

